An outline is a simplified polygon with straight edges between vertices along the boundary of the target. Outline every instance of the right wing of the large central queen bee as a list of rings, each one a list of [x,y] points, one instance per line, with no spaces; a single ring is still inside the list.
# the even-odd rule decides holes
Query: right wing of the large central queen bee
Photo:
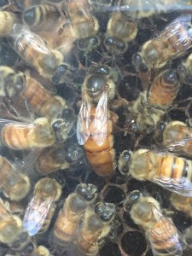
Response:
[[[92,137],[102,146],[108,135],[108,91],[104,90],[97,103],[95,118],[93,119]]]

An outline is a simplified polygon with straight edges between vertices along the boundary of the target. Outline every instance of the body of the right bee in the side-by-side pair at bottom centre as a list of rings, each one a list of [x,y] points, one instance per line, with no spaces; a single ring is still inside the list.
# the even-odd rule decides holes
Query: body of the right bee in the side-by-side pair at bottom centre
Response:
[[[92,209],[87,208],[76,241],[79,252],[83,255],[96,256],[99,251],[98,240],[102,234],[102,228],[101,218]]]

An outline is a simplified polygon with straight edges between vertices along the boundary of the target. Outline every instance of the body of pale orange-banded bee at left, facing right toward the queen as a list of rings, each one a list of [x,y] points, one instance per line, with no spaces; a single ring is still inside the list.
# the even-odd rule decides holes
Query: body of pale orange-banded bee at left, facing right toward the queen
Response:
[[[46,148],[55,143],[55,132],[47,118],[35,119],[33,124],[8,120],[1,137],[3,144],[14,150]]]

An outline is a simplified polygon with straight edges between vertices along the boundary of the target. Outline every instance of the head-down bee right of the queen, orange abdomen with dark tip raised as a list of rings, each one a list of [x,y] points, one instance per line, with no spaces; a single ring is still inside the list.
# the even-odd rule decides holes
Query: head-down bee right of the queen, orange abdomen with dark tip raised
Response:
[[[138,131],[154,128],[176,98],[179,86],[177,72],[168,69],[154,79],[148,91],[140,93],[137,100],[128,107],[128,116],[133,114]]]

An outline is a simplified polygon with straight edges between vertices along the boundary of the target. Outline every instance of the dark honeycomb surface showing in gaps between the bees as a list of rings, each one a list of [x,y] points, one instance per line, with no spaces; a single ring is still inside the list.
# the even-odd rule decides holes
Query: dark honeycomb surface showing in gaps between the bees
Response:
[[[61,10],[61,4],[65,1],[17,1],[11,0],[0,1],[0,8],[16,15],[21,16],[26,9],[39,3],[54,4]],[[79,1],[81,2],[81,1]],[[143,11],[147,1],[137,1],[136,7],[138,13]],[[154,2],[154,1],[153,1]],[[129,113],[127,108],[120,105],[119,108],[113,108],[113,102],[115,100],[122,101],[125,99],[127,102],[134,102],[137,100],[140,92],[146,90],[148,87],[148,73],[145,78],[142,78],[140,73],[132,64],[132,55],[136,54],[141,46],[147,42],[150,38],[156,37],[172,20],[176,19],[179,15],[191,14],[191,3],[186,1],[156,1],[157,3],[151,3],[154,8],[154,14],[149,17],[143,17],[138,20],[138,32],[135,39],[131,40],[128,44],[128,49],[121,55],[113,55],[110,53],[103,44],[105,34],[107,32],[108,20],[113,14],[113,11],[119,5],[118,0],[97,0],[90,1],[90,11],[92,15],[96,16],[99,21],[99,29],[97,32],[100,44],[94,49],[89,49],[89,46],[85,45],[84,40],[75,39],[70,42],[70,47],[65,55],[65,62],[72,67],[73,72],[69,73],[68,78],[60,80],[53,79],[52,83],[49,80],[44,79],[35,72],[30,65],[23,61],[20,56],[15,52],[13,48],[7,42],[5,37],[0,38],[0,65],[14,67],[16,71],[24,72],[27,68],[30,70],[31,76],[51,93],[57,96],[61,96],[66,100],[67,106],[73,108],[73,112],[77,115],[79,113],[79,107],[82,101],[82,84],[86,76],[87,70],[92,63],[106,64],[108,67],[113,67],[114,76],[118,73],[118,79],[116,82],[116,94],[115,99],[109,102],[108,108],[114,111],[119,119],[117,122],[117,128],[113,130],[113,148],[115,149],[115,161],[118,162],[119,154],[124,150],[135,151],[139,148],[158,149],[162,143],[162,131],[166,122],[171,120],[179,120],[188,125],[191,125],[192,119],[192,86],[191,84],[180,84],[177,97],[172,105],[167,108],[166,113],[160,119],[160,122],[155,125],[155,129],[149,132],[137,132],[134,127],[129,125],[127,121]],[[169,4],[168,4],[168,3]],[[131,3],[131,1],[130,1]],[[150,3],[150,1],[149,1]],[[167,9],[155,11],[158,4],[164,3]],[[131,3],[132,4],[132,3]],[[156,4],[156,6],[155,6]],[[161,6],[161,5],[160,5]],[[4,8],[3,8],[4,7]],[[62,16],[63,14],[61,14]],[[61,22],[62,23],[62,22]],[[64,27],[65,29],[65,27]],[[53,40],[56,38],[52,38]],[[46,39],[45,39],[46,40]],[[52,43],[54,44],[54,42]],[[186,49],[186,54],[178,57],[176,60],[169,61],[166,65],[170,68],[177,68],[178,65],[187,58],[190,54],[190,50]],[[0,80],[1,83],[1,80]],[[147,85],[146,85],[147,84]],[[7,102],[1,104],[1,119],[18,120],[17,113],[22,113],[24,116],[30,115],[31,118],[36,116],[35,113],[30,112],[28,109],[20,109],[18,107],[17,98],[13,99],[11,106],[9,99]],[[27,105],[27,102],[26,102]],[[9,108],[9,109],[8,109]],[[9,110],[9,111],[7,111]],[[15,117],[16,113],[16,117]],[[128,115],[127,115],[128,114]],[[19,117],[20,119],[20,117]],[[22,119],[20,119],[22,121]],[[1,120],[0,120],[1,122]],[[107,238],[101,244],[99,251],[100,256],[153,256],[149,242],[146,239],[144,230],[141,230],[137,224],[134,224],[130,217],[129,212],[125,212],[123,202],[126,195],[131,191],[139,189],[142,192],[148,193],[153,196],[157,201],[160,201],[160,205],[163,209],[166,209],[169,217],[172,218],[177,229],[184,232],[192,224],[192,220],[188,218],[183,212],[179,212],[171,206],[169,197],[171,193],[166,189],[162,189],[154,183],[141,182],[132,177],[127,177],[119,172],[118,166],[115,167],[115,175],[113,177],[99,177],[91,169],[90,163],[86,160],[84,154],[84,148],[79,146],[76,138],[76,134],[67,138],[67,141],[61,143],[61,154],[67,160],[68,166],[66,170],[56,170],[56,172],[49,173],[47,177],[54,178],[61,184],[62,194],[61,199],[56,204],[55,214],[51,219],[49,230],[42,235],[32,237],[32,242],[36,245],[43,245],[49,249],[49,255],[60,256],[70,255],[67,251],[57,251],[51,244],[51,231],[53,230],[55,219],[58,212],[63,206],[67,196],[73,193],[79,183],[92,183],[96,185],[99,192],[99,200],[109,203],[113,203],[116,206],[115,221],[111,232]],[[32,183],[30,193],[20,202],[10,201],[10,207],[12,212],[15,212],[18,216],[23,218],[25,214],[26,206],[32,198],[32,189],[37,183],[38,179],[42,177],[38,172],[35,172],[36,156],[33,154],[34,150],[12,150],[7,148],[3,143],[1,144],[1,155],[8,160],[14,162],[17,166],[24,163],[24,171]],[[188,159],[190,159],[188,157]],[[44,175],[43,175],[44,176]],[[6,197],[1,192],[1,198],[6,201]],[[170,213],[171,212],[171,213]],[[30,251],[31,250],[31,251]],[[191,248],[187,247],[183,251],[183,256],[191,255]],[[29,244],[27,250],[21,250],[19,253],[15,253],[14,247],[9,247],[0,244],[0,255],[36,255],[32,253],[32,244]]]

